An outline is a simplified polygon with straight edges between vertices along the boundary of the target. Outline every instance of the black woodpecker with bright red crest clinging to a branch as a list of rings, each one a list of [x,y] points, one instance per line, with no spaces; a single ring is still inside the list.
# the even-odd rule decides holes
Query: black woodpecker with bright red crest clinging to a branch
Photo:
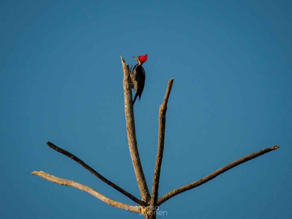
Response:
[[[142,64],[146,62],[147,60],[147,54],[146,55],[140,55],[138,57],[133,56],[134,59],[137,60],[138,64],[134,66],[133,68],[133,73],[131,74],[131,80],[134,85],[134,90],[136,91],[134,100],[133,100],[133,105],[139,95],[139,101],[141,99],[141,94],[144,89],[145,85],[145,71],[144,68],[142,67]]]

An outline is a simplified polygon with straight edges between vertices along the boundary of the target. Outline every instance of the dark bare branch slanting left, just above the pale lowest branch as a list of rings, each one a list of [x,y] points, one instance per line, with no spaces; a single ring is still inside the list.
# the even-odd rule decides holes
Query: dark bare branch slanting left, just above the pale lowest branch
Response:
[[[98,172],[96,172],[93,168],[91,168],[90,166],[88,166],[86,163],[84,163],[82,160],[80,160],[78,157],[76,157],[74,154],[71,154],[70,152],[54,145],[53,143],[47,141],[46,144],[52,148],[53,150],[60,152],[61,154],[64,154],[65,156],[71,158],[72,160],[76,161],[78,164],[80,164],[81,166],[83,166],[86,170],[88,170],[89,172],[91,172],[93,175],[95,175],[97,178],[99,178],[100,180],[102,180],[103,182],[105,182],[107,185],[113,187],[114,189],[118,190],[119,192],[121,192],[122,194],[124,194],[125,196],[127,196],[128,198],[130,198],[131,200],[135,201],[137,204],[144,206],[145,202],[139,200],[138,198],[136,198],[135,196],[133,196],[132,194],[128,193],[126,190],[122,189],[121,187],[119,187],[118,185],[112,183],[111,181],[109,181],[107,178],[103,177],[102,175],[100,175]]]

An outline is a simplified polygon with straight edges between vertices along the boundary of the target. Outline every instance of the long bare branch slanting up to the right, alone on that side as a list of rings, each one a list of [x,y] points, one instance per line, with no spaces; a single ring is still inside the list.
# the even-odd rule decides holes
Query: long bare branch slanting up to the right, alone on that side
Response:
[[[263,154],[265,154],[267,152],[270,152],[272,150],[276,150],[279,147],[280,147],[279,145],[275,145],[273,147],[267,147],[267,148],[265,148],[263,150],[260,150],[260,151],[258,151],[256,153],[251,153],[251,154],[248,154],[248,155],[246,155],[244,157],[241,157],[241,158],[237,159],[236,161],[233,161],[230,164],[227,164],[227,165],[219,168],[218,170],[216,170],[213,173],[205,176],[204,178],[201,178],[201,179],[199,179],[197,181],[194,181],[193,183],[184,185],[184,186],[179,187],[179,188],[177,188],[175,190],[172,190],[171,192],[168,192],[167,194],[165,194],[164,196],[162,196],[162,197],[160,197],[158,199],[157,205],[158,206],[161,205],[162,203],[164,203],[165,201],[167,201],[168,199],[170,199],[171,197],[173,197],[175,195],[178,195],[178,194],[180,194],[182,192],[185,192],[187,190],[190,190],[190,189],[193,189],[195,187],[198,187],[198,186],[200,186],[200,185],[212,180],[213,178],[215,178],[216,176],[220,175],[221,173],[224,173],[227,170],[230,170],[231,168],[238,166],[239,164],[242,164],[242,163],[244,163],[246,161],[249,161],[251,159],[259,157],[260,155],[263,155]]]

